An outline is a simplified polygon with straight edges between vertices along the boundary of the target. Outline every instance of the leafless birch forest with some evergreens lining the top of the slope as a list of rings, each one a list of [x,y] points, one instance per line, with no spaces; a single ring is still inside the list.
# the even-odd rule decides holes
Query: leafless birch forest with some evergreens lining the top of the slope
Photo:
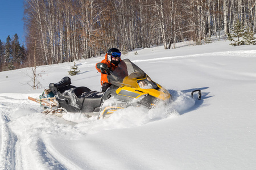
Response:
[[[239,21],[255,33],[255,0],[24,0],[26,49],[0,41],[0,71],[176,42],[200,45]],[[11,49],[11,50],[9,50]],[[18,55],[19,56],[19,55]],[[19,59],[20,58],[20,59]],[[14,64],[15,63],[15,64]]]

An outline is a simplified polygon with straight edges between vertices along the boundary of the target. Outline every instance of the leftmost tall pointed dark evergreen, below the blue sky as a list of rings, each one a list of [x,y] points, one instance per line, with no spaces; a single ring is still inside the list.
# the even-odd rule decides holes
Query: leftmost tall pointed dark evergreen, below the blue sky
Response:
[[[13,65],[13,57],[11,56],[11,38],[10,38],[10,35],[6,39],[4,58],[5,58],[5,68],[4,68],[4,70],[13,70],[14,65]]]

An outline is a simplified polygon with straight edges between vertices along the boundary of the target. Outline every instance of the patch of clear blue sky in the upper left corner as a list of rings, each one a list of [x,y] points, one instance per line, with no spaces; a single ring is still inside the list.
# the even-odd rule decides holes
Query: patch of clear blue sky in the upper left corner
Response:
[[[20,45],[24,44],[23,0],[0,0],[0,40],[6,42],[10,35],[19,36]]]

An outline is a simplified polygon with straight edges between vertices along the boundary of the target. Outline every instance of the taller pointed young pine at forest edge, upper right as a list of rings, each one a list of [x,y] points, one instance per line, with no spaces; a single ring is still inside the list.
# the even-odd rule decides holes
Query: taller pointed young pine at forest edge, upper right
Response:
[[[242,26],[239,20],[237,20],[236,24],[234,25],[232,32],[233,33],[228,33],[228,40],[234,41],[234,43],[231,43],[230,45],[244,45],[245,41],[241,38],[243,37],[243,34],[245,32],[245,26]]]

